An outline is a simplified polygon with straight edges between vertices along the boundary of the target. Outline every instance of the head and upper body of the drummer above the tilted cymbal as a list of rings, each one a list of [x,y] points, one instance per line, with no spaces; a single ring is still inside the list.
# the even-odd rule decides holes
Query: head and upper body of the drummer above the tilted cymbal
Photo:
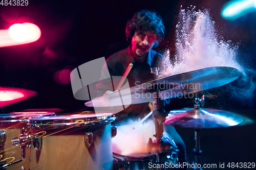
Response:
[[[104,71],[108,68],[110,76],[123,76],[127,66],[133,63],[133,68],[127,76],[130,86],[154,79],[151,67],[165,67],[162,61],[166,61],[158,52],[152,50],[164,38],[165,27],[162,18],[156,12],[141,10],[126,24],[126,40],[130,45],[106,60]],[[99,87],[99,85],[98,85]],[[102,86],[101,86],[102,87]],[[102,88],[104,89],[104,88]],[[97,89],[98,96],[104,91]]]

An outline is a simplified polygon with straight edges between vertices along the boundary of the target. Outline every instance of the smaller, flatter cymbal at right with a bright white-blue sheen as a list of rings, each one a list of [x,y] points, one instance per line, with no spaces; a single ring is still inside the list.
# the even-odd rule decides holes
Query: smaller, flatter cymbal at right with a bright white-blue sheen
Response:
[[[220,128],[236,126],[243,117],[232,112],[215,109],[181,109],[170,111],[164,124],[183,128]]]

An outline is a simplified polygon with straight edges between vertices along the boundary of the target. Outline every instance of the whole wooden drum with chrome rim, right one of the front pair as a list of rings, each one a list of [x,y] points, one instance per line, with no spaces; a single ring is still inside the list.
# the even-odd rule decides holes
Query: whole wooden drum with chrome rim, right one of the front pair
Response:
[[[111,113],[31,119],[28,128],[38,130],[38,145],[31,149],[30,169],[111,169],[114,120]]]

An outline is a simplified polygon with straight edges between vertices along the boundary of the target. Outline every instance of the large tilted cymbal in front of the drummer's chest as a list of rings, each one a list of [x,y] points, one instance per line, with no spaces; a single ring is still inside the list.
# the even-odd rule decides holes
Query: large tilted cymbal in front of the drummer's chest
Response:
[[[131,104],[154,101],[157,86],[160,89],[160,98],[164,100],[219,87],[236,80],[240,75],[241,72],[233,67],[208,67],[121,89],[86,102],[85,105],[88,107],[124,105],[126,108]]]

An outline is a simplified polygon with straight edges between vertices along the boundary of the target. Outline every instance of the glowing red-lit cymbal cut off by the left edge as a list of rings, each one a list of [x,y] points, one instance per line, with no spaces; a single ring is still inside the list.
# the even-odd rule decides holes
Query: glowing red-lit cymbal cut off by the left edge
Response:
[[[0,107],[8,106],[35,96],[37,92],[22,88],[0,87]]]

